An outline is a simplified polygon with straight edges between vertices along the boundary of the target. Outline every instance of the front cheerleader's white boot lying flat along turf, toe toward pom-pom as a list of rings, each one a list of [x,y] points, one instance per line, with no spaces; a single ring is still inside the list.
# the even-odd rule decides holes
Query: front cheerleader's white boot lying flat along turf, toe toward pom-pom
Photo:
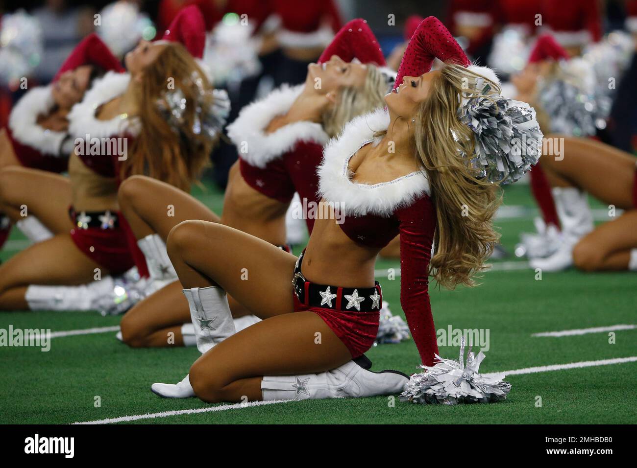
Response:
[[[349,361],[319,374],[264,377],[261,390],[264,401],[373,397],[399,394],[408,381],[401,372],[372,372]]]

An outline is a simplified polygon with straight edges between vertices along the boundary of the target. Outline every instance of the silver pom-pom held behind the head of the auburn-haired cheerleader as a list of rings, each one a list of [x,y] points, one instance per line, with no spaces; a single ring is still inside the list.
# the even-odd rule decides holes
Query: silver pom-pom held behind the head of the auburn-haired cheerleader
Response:
[[[226,119],[230,114],[228,94],[225,90],[204,89],[203,80],[197,73],[192,74],[191,81],[198,90],[191,130],[196,135],[203,134],[206,138],[215,139],[223,131]],[[183,91],[178,87],[168,90],[157,101],[157,106],[166,116],[173,131],[179,132],[184,123],[187,106],[187,99]]]

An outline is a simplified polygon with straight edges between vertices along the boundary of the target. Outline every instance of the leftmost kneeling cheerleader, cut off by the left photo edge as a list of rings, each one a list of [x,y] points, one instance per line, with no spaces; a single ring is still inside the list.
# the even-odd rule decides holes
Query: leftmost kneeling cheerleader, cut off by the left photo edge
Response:
[[[0,247],[9,236],[11,221],[32,242],[50,238],[66,229],[59,197],[70,194],[66,171],[73,149],[68,113],[96,78],[106,71],[124,71],[119,60],[97,37],[89,34],[71,52],[48,86],[29,89],[13,106],[6,128],[0,131],[0,169],[11,166],[38,169],[11,170],[2,175],[0,199]],[[50,192],[43,192],[43,190]],[[19,199],[19,202],[18,202]],[[20,216],[25,204],[29,216]]]

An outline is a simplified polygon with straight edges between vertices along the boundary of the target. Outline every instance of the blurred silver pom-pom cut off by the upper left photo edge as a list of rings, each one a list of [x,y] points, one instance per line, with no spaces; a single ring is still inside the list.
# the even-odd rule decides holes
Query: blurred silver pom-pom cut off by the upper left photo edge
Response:
[[[6,14],[0,28],[0,83],[17,87],[38,66],[43,50],[42,28],[24,10]]]

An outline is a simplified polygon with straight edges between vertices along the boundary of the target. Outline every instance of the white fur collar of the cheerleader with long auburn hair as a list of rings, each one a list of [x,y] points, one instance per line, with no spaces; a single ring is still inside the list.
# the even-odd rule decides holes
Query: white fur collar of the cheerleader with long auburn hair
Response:
[[[69,112],[69,133],[74,138],[84,138],[87,134],[90,138],[107,138],[123,132],[138,134],[140,122],[137,118],[127,118],[122,114],[110,120],[99,120],[95,115],[99,106],[123,94],[130,80],[130,74],[114,71],[97,80],[82,102],[75,104]]]

